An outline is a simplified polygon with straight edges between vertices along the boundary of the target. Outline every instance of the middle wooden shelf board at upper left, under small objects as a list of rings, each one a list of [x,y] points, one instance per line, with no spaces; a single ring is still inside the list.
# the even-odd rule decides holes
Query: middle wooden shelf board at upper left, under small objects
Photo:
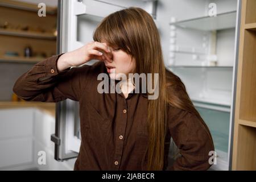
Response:
[[[18,30],[0,29],[0,35],[19,36],[19,37],[34,38],[34,39],[56,40],[56,36],[50,33],[38,33],[38,32],[18,31]]]

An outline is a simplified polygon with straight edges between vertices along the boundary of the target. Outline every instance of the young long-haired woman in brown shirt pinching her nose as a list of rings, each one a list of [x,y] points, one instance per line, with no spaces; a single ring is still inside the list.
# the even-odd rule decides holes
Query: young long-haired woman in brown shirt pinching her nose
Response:
[[[18,78],[14,93],[27,101],[79,101],[81,146],[75,170],[205,170],[212,165],[212,136],[183,82],[164,67],[151,15],[130,7],[106,16],[93,42],[49,57]],[[93,65],[84,63],[100,60]],[[72,67],[72,68],[71,68]],[[71,69],[70,69],[71,68]],[[100,73],[121,93],[100,93]],[[117,73],[127,75],[119,79]],[[158,73],[158,97],[134,93],[129,73]],[[146,81],[147,82],[147,81]],[[106,86],[106,85],[105,85]],[[154,90],[155,92],[155,90]],[[153,93],[154,94],[154,93]],[[170,139],[180,156],[168,164]]]

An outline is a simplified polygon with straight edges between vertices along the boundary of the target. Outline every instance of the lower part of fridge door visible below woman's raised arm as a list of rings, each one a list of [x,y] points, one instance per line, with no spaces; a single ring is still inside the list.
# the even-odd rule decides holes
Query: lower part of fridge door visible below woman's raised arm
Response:
[[[57,103],[55,134],[51,135],[55,143],[55,160],[77,157],[81,144],[79,123],[78,102],[67,99]]]

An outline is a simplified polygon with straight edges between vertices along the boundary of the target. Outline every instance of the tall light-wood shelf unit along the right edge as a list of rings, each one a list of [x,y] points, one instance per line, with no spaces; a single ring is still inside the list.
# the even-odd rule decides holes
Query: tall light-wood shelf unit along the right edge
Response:
[[[256,1],[241,1],[232,170],[256,170]]]

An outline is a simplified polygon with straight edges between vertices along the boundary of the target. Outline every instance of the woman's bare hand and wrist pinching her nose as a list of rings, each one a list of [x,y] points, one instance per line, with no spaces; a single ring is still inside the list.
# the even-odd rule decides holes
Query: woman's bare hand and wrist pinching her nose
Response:
[[[93,59],[112,62],[111,49],[106,46],[106,43],[92,41],[74,51],[64,53],[57,61],[57,69],[58,71],[63,71],[69,67],[77,67]]]

